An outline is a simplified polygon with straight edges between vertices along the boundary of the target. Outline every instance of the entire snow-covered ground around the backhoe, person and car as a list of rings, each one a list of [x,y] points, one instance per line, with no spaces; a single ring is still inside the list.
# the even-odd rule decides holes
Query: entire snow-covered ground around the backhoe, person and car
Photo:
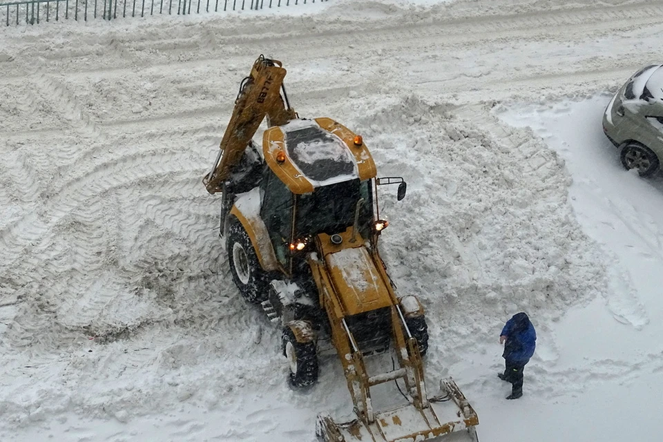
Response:
[[[656,61],[663,2],[288,11],[0,31],[0,440],[312,441],[349,416],[334,358],[287,387],[201,182],[260,53],[407,180],[382,253],[427,309],[429,387],[456,378],[483,442],[659,440],[663,181],[621,169],[600,117]],[[521,310],[537,354],[505,401]]]

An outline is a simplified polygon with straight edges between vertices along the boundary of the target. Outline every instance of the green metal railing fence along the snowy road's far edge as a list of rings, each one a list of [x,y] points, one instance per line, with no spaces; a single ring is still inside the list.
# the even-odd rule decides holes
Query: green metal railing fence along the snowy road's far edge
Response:
[[[0,0],[1,1],[1,0]],[[327,0],[318,0],[319,2]],[[316,0],[308,0],[316,3]],[[6,26],[41,21],[121,17],[146,15],[189,15],[228,10],[259,10],[305,4],[307,0],[23,0],[0,3],[0,23]]]

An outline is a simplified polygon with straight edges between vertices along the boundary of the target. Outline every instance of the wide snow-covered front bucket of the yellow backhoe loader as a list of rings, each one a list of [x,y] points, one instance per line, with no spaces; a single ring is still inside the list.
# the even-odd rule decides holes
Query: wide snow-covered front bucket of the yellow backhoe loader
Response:
[[[445,434],[465,431],[464,440],[477,441],[478,424],[477,413],[453,379],[447,378],[440,381],[439,395],[428,398],[421,409],[408,404],[376,412],[372,423],[362,419],[336,423],[329,415],[318,415],[316,435],[327,442],[420,442],[445,441]]]

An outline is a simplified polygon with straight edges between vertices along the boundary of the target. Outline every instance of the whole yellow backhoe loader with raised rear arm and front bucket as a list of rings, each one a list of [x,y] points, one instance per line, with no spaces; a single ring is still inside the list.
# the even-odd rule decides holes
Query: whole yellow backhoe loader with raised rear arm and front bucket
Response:
[[[398,184],[402,200],[405,182],[376,177],[362,137],[334,119],[300,118],[285,74],[280,61],[256,60],[203,179],[209,193],[222,193],[220,236],[234,282],[282,326],[293,387],[317,381],[323,343],[338,355],[356,419],[319,415],[318,438],[414,442],[466,431],[477,440],[477,414],[451,378],[427,396],[423,307],[412,295],[396,295],[378,253],[387,222],[377,186]],[[264,119],[260,149],[252,138]],[[369,369],[367,358],[389,353],[392,367]],[[374,410],[372,387],[391,381],[405,403]]]

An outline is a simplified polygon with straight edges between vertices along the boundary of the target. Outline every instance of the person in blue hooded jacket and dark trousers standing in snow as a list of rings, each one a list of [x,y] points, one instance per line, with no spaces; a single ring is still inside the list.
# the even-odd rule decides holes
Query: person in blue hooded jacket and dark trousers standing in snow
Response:
[[[512,384],[511,394],[507,399],[517,399],[523,396],[523,370],[537,346],[537,332],[527,314],[520,312],[506,321],[499,336],[499,343],[504,344],[502,357],[506,367],[504,373],[497,376]]]

